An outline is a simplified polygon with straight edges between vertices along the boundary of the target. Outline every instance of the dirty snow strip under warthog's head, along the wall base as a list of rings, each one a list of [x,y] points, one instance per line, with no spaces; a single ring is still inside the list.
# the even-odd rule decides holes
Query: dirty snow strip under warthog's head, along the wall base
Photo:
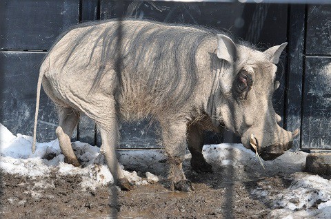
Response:
[[[305,168],[305,158],[308,153],[285,152],[274,160],[261,160],[250,149],[241,144],[219,144],[203,146],[205,160],[214,168],[231,165],[234,168],[234,180],[261,178],[277,174],[288,175]]]

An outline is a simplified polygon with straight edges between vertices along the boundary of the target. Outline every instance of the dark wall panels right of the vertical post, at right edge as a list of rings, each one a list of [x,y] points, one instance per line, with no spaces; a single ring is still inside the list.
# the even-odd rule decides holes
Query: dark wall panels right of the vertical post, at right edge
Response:
[[[301,144],[331,149],[331,6],[308,6]]]

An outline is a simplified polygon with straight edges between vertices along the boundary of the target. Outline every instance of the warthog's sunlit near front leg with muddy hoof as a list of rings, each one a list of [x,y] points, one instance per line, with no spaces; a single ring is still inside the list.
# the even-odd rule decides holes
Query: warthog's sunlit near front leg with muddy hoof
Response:
[[[194,190],[190,180],[185,178],[182,165],[186,149],[186,123],[168,123],[161,126],[163,145],[170,165],[170,189]]]

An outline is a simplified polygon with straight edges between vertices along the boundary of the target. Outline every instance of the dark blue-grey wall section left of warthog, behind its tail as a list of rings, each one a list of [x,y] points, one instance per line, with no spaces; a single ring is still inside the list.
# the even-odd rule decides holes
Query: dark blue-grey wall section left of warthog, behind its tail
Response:
[[[1,123],[32,134],[39,67],[63,30],[79,22],[79,1],[0,1]],[[41,94],[39,140],[55,138],[57,114]]]

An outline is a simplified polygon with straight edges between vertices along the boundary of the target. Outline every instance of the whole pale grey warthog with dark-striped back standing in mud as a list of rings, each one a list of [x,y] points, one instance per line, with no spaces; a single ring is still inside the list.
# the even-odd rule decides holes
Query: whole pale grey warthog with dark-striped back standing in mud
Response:
[[[134,43],[137,46],[130,48],[132,40],[138,37],[137,32],[151,26],[144,33],[146,36],[143,36],[150,37],[150,43],[141,45],[136,41]],[[137,65],[132,66],[134,61],[123,58],[124,64],[119,67],[116,57],[101,59],[105,47],[110,52],[119,49],[115,41],[107,42],[102,34],[119,31],[118,28],[117,21],[74,28],[64,34],[50,50],[40,68],[33,152],[41,83],[59,109],[59,127],[56,133],[66,161],[75,166],[80,165],[69,136],[77,125],[79,115],[84,113],[99,126],[101,154],[105,156],[111,173],[117,179],[117,185],[122,189],[131,189],[131,185],[123,175],[115,155],[121,121],[135,121],[146,116],[159,121],[161,138],[170,165],[170,188],[179,191],[193,189],[182,169],[186,145],[192,153],[192,167],[197,171],[211,171],[201,154],[203,129],[218,130],[225,125],[239,134],[243,145],[250,149],[250,134],[254,134],[258,152],[265,160],[274,159],[290,148],[292,134],[277,124],[281,117],[272,107],[272,94],[279,85],[274,81],[277,70],[275,64],[278,63],[286,43],[259,52],[242,43],[234,43],[224,34],[207,34],[208,37],[199,42],[193,58],[191,57],[196,65],[196,75],[191,70],[188,71],[185,63],[179,62],[174,65],[179,71],[176,75],[171,67],[165,72],[166,66],[162,69],[163,72],[155,70],[154,76],[154,73],[148,73],[152,65],[169,57],[163,57],[161,52],[161,56],[155,58],[157,52],[152,48],[157,46],[151,40],[154,36],[148,36],[150,31],[165,31],[170,34],[170,37],[167,36],[170,44],[162,48],[165,51],[177,40],[176,37],[171,39],[172,33],[178,30],[188,33],[207,30],[149,21],[123,21],[120,30],[123,45],[121,52],[127,52],[129,58],[136,57],[131,59],[137,59],[132,54],[143,49],[145,53],[141,53],[143,56],[138,55],[141,60],[136,62]],[[79,43],[78,36],[81,37]],[[167,40],[164,39],[164,43]],[[178,59],[185,60],[181,46],[179,45],[177,51]],[[126,51],[129,48],[130,51]],[[101,68],[104,71],[97,76]],[[178,79],[176,86],[171,80],[172,74],[173,78]],[[193,75],[190,86],[185,84],[189,79],[180,78],[188,75]],[[150,84],[146,85],[147,83]],[[192,90],[185,92],[187,87]],[[170,92],[172,88],[175,90]],[[185,101],[180,102],[181,99]]]

